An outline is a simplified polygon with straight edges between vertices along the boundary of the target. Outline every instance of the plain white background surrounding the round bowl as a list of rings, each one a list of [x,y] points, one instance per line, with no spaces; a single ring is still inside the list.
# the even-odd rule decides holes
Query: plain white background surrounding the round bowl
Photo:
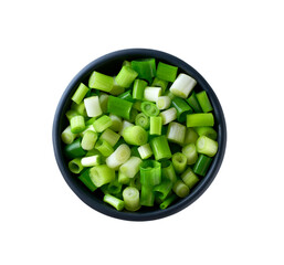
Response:
[[[1,264],[284,264],[283,1],[1,1]],[[200,72],[228,125],[207,192],[128,222],[62,178],[52,121],[73,76],[116,50],[171,53]]]

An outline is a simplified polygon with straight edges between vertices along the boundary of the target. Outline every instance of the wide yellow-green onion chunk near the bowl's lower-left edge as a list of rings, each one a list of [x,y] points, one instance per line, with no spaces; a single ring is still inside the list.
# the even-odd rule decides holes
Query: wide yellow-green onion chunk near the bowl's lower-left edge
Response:
[[[99,188],[115,179],[115,171],[106,165],[98,165],[90,169],[90,178]]]

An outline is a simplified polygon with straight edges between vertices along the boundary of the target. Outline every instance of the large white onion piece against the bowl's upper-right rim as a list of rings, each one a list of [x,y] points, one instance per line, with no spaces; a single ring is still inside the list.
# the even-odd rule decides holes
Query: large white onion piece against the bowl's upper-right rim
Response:
[[[193,89],[196,84],[196,80],[193,80],[191,76],[179,74],[169,89],[176,96],[188,98],[189,93]]]

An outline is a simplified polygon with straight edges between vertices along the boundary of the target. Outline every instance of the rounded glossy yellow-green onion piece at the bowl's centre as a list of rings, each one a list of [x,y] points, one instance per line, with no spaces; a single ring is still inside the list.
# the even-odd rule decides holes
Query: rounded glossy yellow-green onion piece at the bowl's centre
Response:
[[[143,146],[148,141],[147,131],[140,126],[129,126],[123,130],[124,140],[134,146]]]

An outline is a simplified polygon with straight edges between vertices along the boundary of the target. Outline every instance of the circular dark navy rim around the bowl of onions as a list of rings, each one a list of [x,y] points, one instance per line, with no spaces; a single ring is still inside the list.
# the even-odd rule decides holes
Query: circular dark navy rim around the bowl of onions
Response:
[[[80,84],[82,80],[84,80],[87,75],[91,74],[94,70],[98,68],[101,65],[106,64],[108,61],[114,60],[124,60],[127,57],[155,57],[157,61],[164,61],[166,63],[170,63],[176,65],[181,70],[183,73],[190,74],[198,84],[208,93],[209,98],[211,99],[211,104],[214,108],[214,117],[218,117],[218,144],[219,150],[213,158],[212,165],[207,172],[207,176],[200,180],[200,183],[190,192],[190,194],[170,205],[165,210],[156,210],[149,212],[119,212],[111,206],[106,206],[99,204],[94,197],[91,197],[88,193],[84,192],[83,190],[78,189],[74,181],[72,181],[72,176],[67,169],[67,166],[64,163],[63,152],[61,148],[61,131],[60,131],[60,120],[63,112],[63,107],[66,104],[72,92],[75,87]],[[109,63],[108,62],[108,63]],[[91,63],[88,63],[85,67],[83,67],[70,82],[65,91],[63,92],[60,102],[57,104],[54,119],[53,119],[53,127],[52,127],[52,141],[53,141],[53,150],[57,167],[62,173],[62,177],[69,184],[69,187],[73,190],[73,192],[88,206],[92,209],[115,218],[119,220],[127,220],[127,221],[151,221],[157,219],[162,219],[169,215],[172,215],[185,208],[192,204],[198,198],[200,198],[204,191],[209,188],[209,186],[214,180],[224,158],[225,153],[225,146],[227,146],[227,125],[224,114],[221,107],[221,104],[214,94],[211,86],[207,83],[207,81],[199,74],[191,65],[186,63],[185,61],[180,60],[179,57],[171,55],[169,53],[152,50],[152,49],[125,49],[118,50],[115,52],[111,52],[105,54]]]

